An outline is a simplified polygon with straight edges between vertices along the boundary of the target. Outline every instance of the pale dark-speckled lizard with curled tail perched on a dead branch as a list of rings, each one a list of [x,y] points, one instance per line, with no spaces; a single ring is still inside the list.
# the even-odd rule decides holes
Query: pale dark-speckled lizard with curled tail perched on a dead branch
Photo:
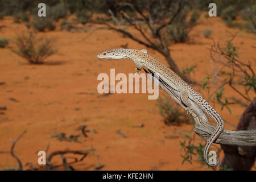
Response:
[[[125,49],[117,48],[108,51],[101,52],[97,55],[100,59],[131,59],[134,61],[137,68],[135,68],[135,74],[141,71],[143,67],[147,68],[153,73],[158,73],[159,79],[161,79],[166,85],[171,86],[172,89],[180,92],[180,101],[185,106],[187,113],[192,116],[195,115],[192,110],[191,101],[195,102],[213,121],[216,123],[216,128],[213,134],[208,139],[204,148],[204,160],[209,166],[216,166],[219,162],[219,157],[216,164],[210,164],[208,162],[208,151],[212,143],[218,138],[218,136],[224,130],[224,121],[216,110],[191,86],[187,84],[180,76],[178,76],[171,68],[168,68],[163,63],[160,63],[157,59],[147,54],[146,49]]]

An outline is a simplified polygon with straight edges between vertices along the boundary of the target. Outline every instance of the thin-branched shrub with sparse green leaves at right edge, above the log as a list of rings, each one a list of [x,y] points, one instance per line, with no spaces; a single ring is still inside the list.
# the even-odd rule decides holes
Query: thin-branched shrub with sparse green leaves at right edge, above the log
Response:
[[[212,69],[212,74],[207,73],[207,77],[204,78],[201,85],[202,88],[208,89],[208,92],[215,87],[216,90],[212,93],[209,92],[209,98],[215,94],[214,98],[216,98],[217,103],[221,105],[222,109],[226,107],[230,113],[231,110],[228,105],[233,104],[233,102],[229,102],[226,97],[225,101],[221,100],[224,96],[225,86],[232,88],[245,101],[251,101],[249,92],[256,92],[254,70],[251,68],[250,62],[245,63],[239,59],[238,47],[234,46],[232,42],[235,36],[236,34],[232,35],[232,39],[224,47],[220,47],[219,43],[212,47],[211,51],[218,54],[217,58],[211,55],[216,67]],[[223,65],[223,67],[220,68],[218,65]]]

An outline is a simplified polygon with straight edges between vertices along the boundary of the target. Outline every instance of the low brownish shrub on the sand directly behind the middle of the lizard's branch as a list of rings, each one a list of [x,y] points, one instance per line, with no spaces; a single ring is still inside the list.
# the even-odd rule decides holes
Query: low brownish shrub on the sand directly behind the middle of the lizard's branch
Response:
[[[177,108],[177,104],[170,102],[169,98],[159,98],[159,113],[164,117],[166,125],[181,125],[181,123],[189,123],[191,119]]]

